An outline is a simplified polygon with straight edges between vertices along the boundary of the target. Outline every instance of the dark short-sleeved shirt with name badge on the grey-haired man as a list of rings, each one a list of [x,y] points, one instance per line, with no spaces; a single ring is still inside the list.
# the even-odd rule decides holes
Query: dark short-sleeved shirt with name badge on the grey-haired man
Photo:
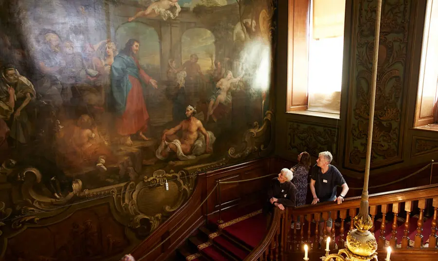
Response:
[[[311,169],[311,179],[315,181],[315,193],[319,202],[334,201],[336,186],[346,183],[341,172],[333,165],[329,165],[329,170],[323,174],[321,168],[315,164]]]

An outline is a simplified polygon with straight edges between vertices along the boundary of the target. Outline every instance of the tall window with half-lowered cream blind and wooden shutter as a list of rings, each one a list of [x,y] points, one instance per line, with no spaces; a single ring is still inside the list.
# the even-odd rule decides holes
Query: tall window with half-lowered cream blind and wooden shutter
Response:
[[[339,114],[345,1],[289,0],[289,112]]]

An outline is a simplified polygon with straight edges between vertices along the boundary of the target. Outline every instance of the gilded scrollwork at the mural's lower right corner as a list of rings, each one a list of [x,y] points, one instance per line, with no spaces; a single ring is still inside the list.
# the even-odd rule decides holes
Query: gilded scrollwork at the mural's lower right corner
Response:
[[[267,111],[263,119],[263,125],[259,127],[258,122],[255,122],[254,127],[243,134],[242,148],[236,149],[232,147],[228,149],[228,156],[233,159],[246,158],[256,151],[259,151],[260,156],[268,155],[274,147],[273,117],[273,112]],[[266,145],[265,139],[268,133],[270,133],[271,139],[268,141],[268,145]]]

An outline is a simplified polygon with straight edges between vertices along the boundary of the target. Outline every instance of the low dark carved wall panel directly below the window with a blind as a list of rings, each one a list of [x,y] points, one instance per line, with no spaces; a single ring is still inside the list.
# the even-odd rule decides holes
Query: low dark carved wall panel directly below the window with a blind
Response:
[[[339,128],[323,124],[309,124],[298,121],[288,122],[286,150],[292,153],[309,152],[318,157],[321,151],[330,151],[336,161],[339,143]]]

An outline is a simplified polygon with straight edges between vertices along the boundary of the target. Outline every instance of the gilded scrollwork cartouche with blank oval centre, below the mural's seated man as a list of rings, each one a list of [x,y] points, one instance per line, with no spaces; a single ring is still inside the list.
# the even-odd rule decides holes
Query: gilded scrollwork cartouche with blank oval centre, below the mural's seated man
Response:
[[[121,191],[113,190],[114,208],[129,220],[129,227],[148,234],[188,199],[195,178],[184,171],[166,173],[162,169],[157,170],[138,184],[128,182]]]

